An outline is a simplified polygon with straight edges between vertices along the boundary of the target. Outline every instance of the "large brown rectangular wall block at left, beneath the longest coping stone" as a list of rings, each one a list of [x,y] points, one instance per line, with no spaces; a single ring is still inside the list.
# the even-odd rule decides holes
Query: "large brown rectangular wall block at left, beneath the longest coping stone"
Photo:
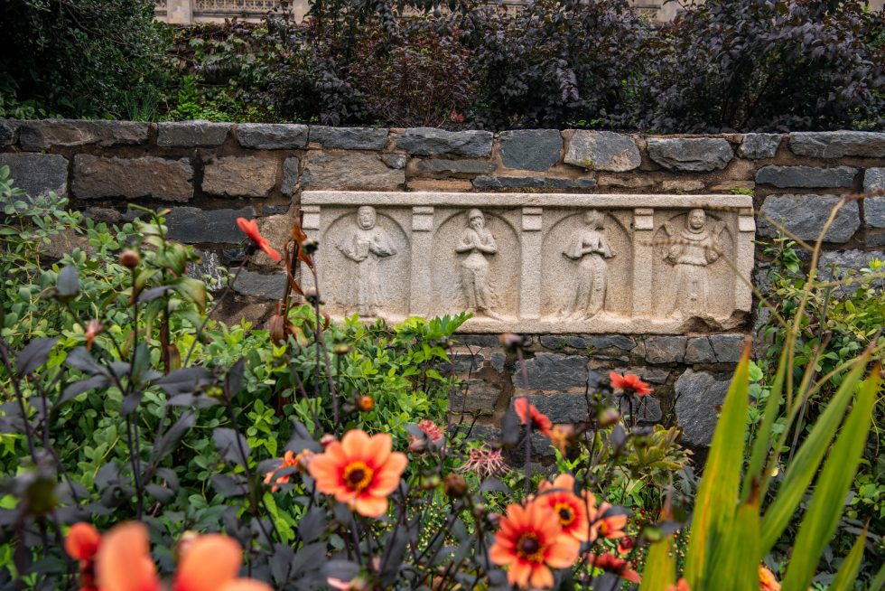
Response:
[[[167,160],[74,156],[71,191],[78,199],[160,199],[186,202],[193,197],[193,167],[187,158]]]

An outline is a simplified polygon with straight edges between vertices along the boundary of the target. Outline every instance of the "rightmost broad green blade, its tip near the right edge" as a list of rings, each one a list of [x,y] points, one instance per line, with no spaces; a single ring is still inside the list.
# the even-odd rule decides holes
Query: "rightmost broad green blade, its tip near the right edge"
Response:
[[[781,585],[783,591],[806,591],[815,576],[817,563],[839,524],[845,498],[861,462],[880,385],[880,365],[876,364],[870,377],[862,383],[854,408],[845,419],[842,433],[836,438],[817,478],[811,505],[799,525],[787,576]]]

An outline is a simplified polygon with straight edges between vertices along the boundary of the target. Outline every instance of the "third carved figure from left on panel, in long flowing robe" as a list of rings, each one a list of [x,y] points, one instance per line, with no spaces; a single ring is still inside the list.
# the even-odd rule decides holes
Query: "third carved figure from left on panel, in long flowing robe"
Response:
[[[573,320],[588,320],[602,311],[609,285],[609,264],[605,259],[614,257],[602,232],[605,214],[587,211],[584,223],[586,227],[575,232],[563,251],[565,258],[578,261],[574,296],[560,312]]]

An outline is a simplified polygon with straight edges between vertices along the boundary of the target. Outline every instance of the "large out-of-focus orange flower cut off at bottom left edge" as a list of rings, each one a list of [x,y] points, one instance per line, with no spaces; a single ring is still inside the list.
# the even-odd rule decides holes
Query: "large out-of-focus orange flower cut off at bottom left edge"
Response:
[[[243,556],[239,544],[221,534],[200,536],[182,556],[172,591],[272,591],[256,580],[237,578]],[[147,528],[129,522],[107,532],[96,557],[101,591],[160,591]]]

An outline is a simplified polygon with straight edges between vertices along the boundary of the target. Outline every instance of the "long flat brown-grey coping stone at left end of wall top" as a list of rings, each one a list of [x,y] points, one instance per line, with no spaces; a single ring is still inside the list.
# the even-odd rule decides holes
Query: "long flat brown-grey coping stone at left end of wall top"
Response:
[[[81,121],[42,119],[19,124],[18,143],[23,150],[46,150],[51,146],[98,144],[135,145],[147,142],[149,123],[135,121]]]

